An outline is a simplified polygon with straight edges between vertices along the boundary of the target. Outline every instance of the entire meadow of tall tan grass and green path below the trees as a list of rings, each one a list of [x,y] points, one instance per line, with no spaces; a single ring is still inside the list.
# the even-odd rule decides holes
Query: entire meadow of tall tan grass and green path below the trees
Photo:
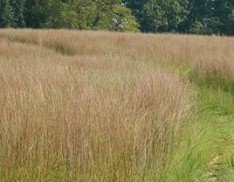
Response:
[[[0,30],[0,181],[234,181],[233,45]]]

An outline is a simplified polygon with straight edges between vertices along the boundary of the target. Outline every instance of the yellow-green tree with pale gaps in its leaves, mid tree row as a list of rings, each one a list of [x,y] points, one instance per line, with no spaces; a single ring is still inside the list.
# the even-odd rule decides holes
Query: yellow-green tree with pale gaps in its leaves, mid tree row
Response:
[[[75,7],[80,29],[138,30],[135,17],[119,0],[78,0]]]

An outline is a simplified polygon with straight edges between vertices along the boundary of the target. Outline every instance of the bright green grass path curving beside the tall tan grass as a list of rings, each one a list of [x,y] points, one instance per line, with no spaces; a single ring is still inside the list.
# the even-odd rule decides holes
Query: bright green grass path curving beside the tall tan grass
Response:
[[[189,56],[181,58],[175,52],[172,57],[174,61]],[[172,58],[169,55],[169,58],[162,56],[160,59],[170,62]],[[154,62],[153,59],[148,62],[190,80],[197,99],[180,135],[182,142],[169,159],[161,181],[234,181],[234,95],[232,89],[225,89],[230,88],[231,83],[226,82],[229,86],[223,86],[219,78],[197,76],[187,63],[185,66],[184,62],[171,63],[168,66],[168,62]]]

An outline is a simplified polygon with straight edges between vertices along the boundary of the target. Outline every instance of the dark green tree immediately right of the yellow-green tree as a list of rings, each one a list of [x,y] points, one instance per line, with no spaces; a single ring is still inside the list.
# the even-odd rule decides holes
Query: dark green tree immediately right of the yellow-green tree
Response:
[[[126,0],[144,32],[175,32],[187,16],[188,0]]]

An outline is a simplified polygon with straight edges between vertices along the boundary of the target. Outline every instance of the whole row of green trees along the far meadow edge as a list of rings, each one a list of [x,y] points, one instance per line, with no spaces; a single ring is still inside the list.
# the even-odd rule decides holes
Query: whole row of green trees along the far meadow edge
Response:
[[[0,0],[0,28],[234,35],[233,0]]]

